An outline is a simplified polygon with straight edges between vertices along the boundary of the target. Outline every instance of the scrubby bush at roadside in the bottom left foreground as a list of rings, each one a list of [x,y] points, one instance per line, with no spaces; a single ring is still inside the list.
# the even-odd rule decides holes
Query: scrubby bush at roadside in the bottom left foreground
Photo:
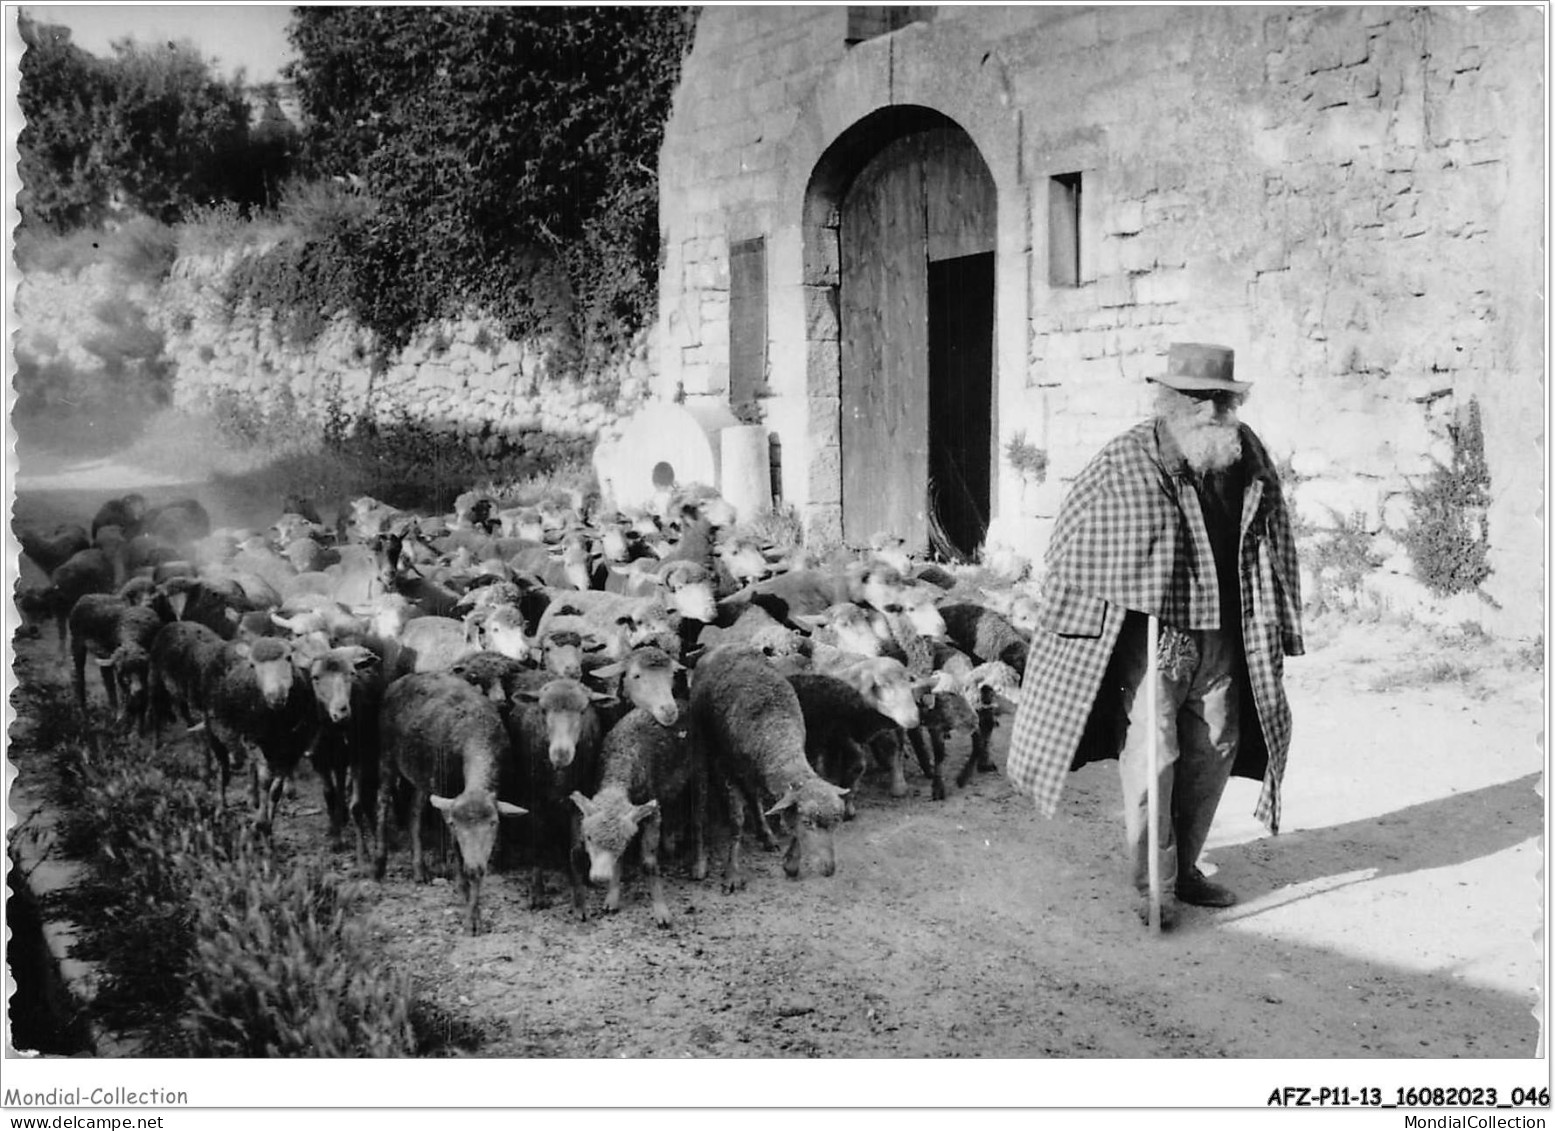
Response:
[[[128,744],[62,753],[61,843],[92,868],[70,896],[78,957],[103,963],[103,1021],[149,1027],[168,1055],[415,1052],[409,980],[383,969],[359,885],[277,860],[187,764]]]

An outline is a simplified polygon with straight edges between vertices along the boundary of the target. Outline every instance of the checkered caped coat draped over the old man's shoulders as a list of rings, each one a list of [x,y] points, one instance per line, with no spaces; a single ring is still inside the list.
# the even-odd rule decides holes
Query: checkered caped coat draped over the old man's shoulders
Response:
[[[1241,426],[1247,470],[1239,537],[1247,686],[1233,773],[1263,779],[1253,811],[1280,831],[1280,779],[1291,747],[1284,657],[1302,655],[1295,540],[1263,442]],[[1155,422],[1115,437],[1081,471],[1059,510],[1026,660],[1006,775],[1051,817],[1068,770],[1123,748],[1121,702],[1102,688],[1127,610],[1179,629],[1219,625],[1219,587],[1199,496],[1169,467]]]

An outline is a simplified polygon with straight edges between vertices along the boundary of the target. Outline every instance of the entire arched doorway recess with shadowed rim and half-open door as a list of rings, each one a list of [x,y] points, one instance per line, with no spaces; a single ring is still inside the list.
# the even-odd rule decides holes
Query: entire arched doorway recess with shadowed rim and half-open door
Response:
[[[997,198],[972,138],[877,110],[805,194],[812,397],[835,390],[841,532],[970,555],[991,515]],[[816,348],[835,342],[835,348]],[[830,376],[823,369],[835,369]],[[835,383],[832,383],[835,381]]]

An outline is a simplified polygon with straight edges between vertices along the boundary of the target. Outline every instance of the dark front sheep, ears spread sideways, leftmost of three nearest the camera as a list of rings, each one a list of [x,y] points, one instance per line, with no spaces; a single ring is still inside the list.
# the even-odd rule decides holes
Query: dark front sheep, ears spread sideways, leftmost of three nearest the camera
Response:
[[[459,893],[465,930],[480,930],[480,882],[496,846],[501,817],[526,811],[498,798],[498,781],[510,759],[507,730],[496,705],[448,672],[418,672],[389,685],[378,711],[379,792],[378,854],[373,874],[389,865],[389,811],[393,784],[409,783],[411,874],[428,879],[421,856],[421,811],[431,803],[448,821],[459,846]]]

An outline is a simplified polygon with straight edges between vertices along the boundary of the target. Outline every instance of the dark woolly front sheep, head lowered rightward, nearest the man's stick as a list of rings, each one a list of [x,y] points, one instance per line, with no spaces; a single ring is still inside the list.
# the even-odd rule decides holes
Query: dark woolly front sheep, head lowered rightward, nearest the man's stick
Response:
[[[791,835],[784,873],[796,877],[802,856],[816,859],[823,876],[835,873],[832,829],[843,820],[843,790],[810,767],[799,695],[767,658],[737,644],[701,657],[692,677],[690,725],[704,744],[712,789],[728,801],[725,888],[745,887],[745,806],[754,804],[762,817],[767,797],[778,800],[765,815],[782,814]],[[770,840],[765,820],[760,828]]]

